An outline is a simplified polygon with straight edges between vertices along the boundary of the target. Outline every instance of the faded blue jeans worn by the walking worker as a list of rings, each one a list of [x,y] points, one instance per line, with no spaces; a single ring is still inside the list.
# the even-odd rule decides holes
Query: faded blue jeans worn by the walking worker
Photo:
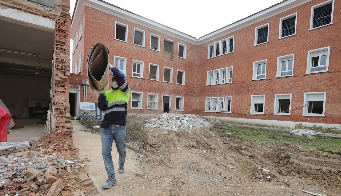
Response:
[[[111,150],[113,147],[113,140],[115,140],[117,152],[119,154],[118,163],[122,164],[125,162],[125,131],[126,128],[123,125],[120,126],[108,126],[102,127],[101,129],[101,140],[102,140],[102,155],[105,170],[107,171],[108,178],[115,177],[115,168],[113,159],[111,157]]]

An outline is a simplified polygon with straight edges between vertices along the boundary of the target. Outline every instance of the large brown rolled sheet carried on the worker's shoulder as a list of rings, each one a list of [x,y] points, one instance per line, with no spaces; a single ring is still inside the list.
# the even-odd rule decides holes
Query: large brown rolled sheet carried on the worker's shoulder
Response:
[[[95,43],[88,54],[87,75],[92,94],[98,96],[96,90],[108,89],[109,86],[109,48],[103,43]]]

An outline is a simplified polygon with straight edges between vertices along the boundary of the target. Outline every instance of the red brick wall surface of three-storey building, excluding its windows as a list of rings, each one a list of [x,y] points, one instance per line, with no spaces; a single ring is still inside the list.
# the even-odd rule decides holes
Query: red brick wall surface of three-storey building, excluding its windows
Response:
[[[311,7],[324,0],[313,0],[291,10],[256,22],[252,25],[225,34],[217,39],[210,40],[199,46],[184,42],[167,34],[149,29],[131,21],[124,20],[114,15],[85,7],[83,13],[83,42],[80,44],[82,53],[88,54],[89,49],[95,42],[102,42],[110,52],[110,63],[113,64],[114,55],[127,58],[127,82],[132,91],[143,92],[143,108],[147,107],[147,93],[157,93],[159,101],[162,94],[170,94],[177,86],[176,70],[185,70],[185,85],[188,90],[205,103],[205,97],[232,96],[233,112],[250,114],[251,95],[265,94],[264,113],[272,113],[274,108],[275,94],[292,93],[291,108],[303,106],[305,92],[327,91],[325,117],[302,116],[302,108],[292,110],[291,116],[265,115],[250,116],[234,113],[204,112],[205,106],[195,99],[187,89],[179,85],[178,90],[172,95],[172,109],[175,112],[175,96],[184,95],[184,112],[205,116],[253,118],[264,120],[302,121],[319,123],[341,123],[341,85],[340,85],[340,50],[341,43],[337,40],[341,37],[340,9],[341,3],[336,1],[334,5],[333,23],[331,25],[309,31]],[[279,20],[282,17],[297,12],[296,35],[278,40]],[[115,21],[128,25],[128,43],[115,40]],[[269,22],[269,43],[254,46],[255,27]],[[145,47],[133,45],[134,27],[146,31]],[[149,49],[150,33],[161,36],[161,52]],[[234,35],[234,52],[219,57],[207,59],[207,47],[209,44],[220,41]],[[163,40],[174,40],[173,61],[163,59]],[[84,43],[85,41],[85,43]],[[186,60],[177,57],[178,42],[186,44]],[[81,45],[83,44],[83,45]],[[330,46],[329,72],[306,74],[308,50]],[[78,48],[77,48],[78,49]],[[80,51],[75,52],[73,61],[78,59]],[[77,55],[78,54],[78,55]],[[295,54],[294,76],[275,78],[277,71],[277,57]],[[82,59],[84,59],[82,57]],[[85,55],[86,59],[86,55]],[[144,61],[144,79],[131,77],[132,60]],[[252,81],[253,62],[267,59],[266,79]],[[83,69],[86,70],[86,60],[82,60]],[[159,64],[159,80],[148,80],[149,63]],[[163,66],[173,67],[173,84],[163,82]],[[222,67],[233,66],[233,83],[206,86],[207,71]],[[111,73],[110,73],[111,74]],[[83,72],[83,79],[87,79]],[[81,93],[83,96],[83,93]],[[88,102],[97,102],[97,97],[88,91]],[[83,99],[81,99],[83,100]],[[130,103],[129,103],[130,104]],[[158,110],[144,110],[144,113],[162,113],[162,105],[159,103]],[[128,112],[137,113],[139,109],[130,109]]]

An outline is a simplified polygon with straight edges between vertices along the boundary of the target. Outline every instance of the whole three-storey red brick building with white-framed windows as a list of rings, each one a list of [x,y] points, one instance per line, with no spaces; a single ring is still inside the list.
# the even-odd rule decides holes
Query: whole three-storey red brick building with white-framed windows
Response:
[[[77,1],[75,114],[77,97],[97,102],[82,81],[88,51],[102,42],[109,62],[127,75],[129,113],[168,108],[234,123],[340,130],[340,9],[339,0],[286,0],[196,39],[104,1]]]

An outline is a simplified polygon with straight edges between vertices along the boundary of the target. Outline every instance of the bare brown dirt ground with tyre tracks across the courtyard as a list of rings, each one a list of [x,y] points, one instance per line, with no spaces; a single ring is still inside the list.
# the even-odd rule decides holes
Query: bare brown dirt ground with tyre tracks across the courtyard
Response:
[[[156,158],[134,154],[126,161],[132,165],[122,176],[124,183],[118,181],[104,195],[310,195],[299,189],[341,195],[341,157],[335,154],[288,142],[219,136],[209,128],[144,130],[142,148]]]

